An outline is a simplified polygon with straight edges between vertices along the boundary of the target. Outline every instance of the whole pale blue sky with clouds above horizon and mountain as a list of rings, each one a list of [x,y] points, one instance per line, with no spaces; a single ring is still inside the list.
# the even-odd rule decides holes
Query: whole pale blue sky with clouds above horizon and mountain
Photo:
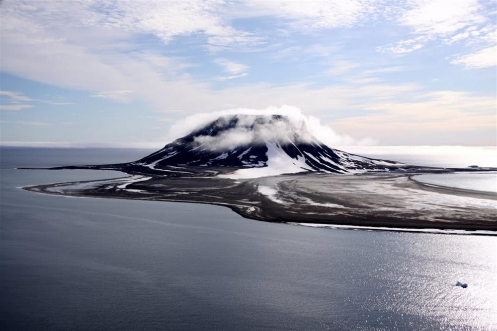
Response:
[[[0,2],[3,145],[160,147],[291,109],[337,145],[497,145],[497,2]],[[172,133],[171,133],[172,132]]]

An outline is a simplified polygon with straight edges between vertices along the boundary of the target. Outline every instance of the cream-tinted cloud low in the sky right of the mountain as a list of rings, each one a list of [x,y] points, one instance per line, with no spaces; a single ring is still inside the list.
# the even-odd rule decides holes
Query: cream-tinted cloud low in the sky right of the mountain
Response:
[[[370,113],[366,115],[334,120],[330,125],[337,132],[345,131],[355,136],[366,133],[381,142],[396,137],[397,144],[446,144],[449,141],[442,141],[442,137],[457,135],[461,138],[465,132],[479,132],[460,140],[467,145],[495,141],[495,97],[435,91],[418,94],[416,99],[371,105]]]

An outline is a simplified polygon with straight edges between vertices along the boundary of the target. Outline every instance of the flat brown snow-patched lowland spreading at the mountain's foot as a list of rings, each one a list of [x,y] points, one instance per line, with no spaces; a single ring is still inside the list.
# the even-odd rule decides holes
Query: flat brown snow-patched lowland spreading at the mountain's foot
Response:
[[[428,186],[412,179],[414,175],[416,173],[296,174],[235,181],[217,177],[169,178],[134,173],[125,178],[45,184],[23,189],[71,197],[215,204],[228,207],[244,218],[290,225],[497,235],[495,194]],[[137,176],[150,179],[136,182]],[[331,187],[336,184],[340,190],[326,192],[323,183]],[[380,192],[376,192],[378,188],[375,186],[380,188]],[[368,187],[370,192],[365,192],[364,188]],[[271,188],[276,193],[270,191],[274,194],[268,195],[262,188]],[[400,193],[402,191],[404,195]],[[432,196],[437,199],[445,197],[445,200],[430,201]],[[414,205],[410,201],[413,197]],[[395,199],[398,201],[392,205]],[[457,203],[454,205],[453,199],[476,204],[461,207]],[[481,231],[484,233],[477,233]]]

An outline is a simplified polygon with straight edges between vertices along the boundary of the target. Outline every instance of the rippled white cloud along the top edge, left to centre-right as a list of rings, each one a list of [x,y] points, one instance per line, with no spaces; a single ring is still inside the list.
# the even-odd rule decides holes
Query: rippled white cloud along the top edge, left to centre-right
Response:
[[[368,1],[74,1],[64,5],[53,1],[16,3],[7,1],[6,16],[20,14],[28,20],[64,30],[68,27],[102,27],[128,33],[153,34],[169,43],[178,36],[201,34],[210,50],[228,46],[254,46],[264,37],[235,28],[232,20],[244,17],[276,16],[299,29],[350,27],[372,5]]]

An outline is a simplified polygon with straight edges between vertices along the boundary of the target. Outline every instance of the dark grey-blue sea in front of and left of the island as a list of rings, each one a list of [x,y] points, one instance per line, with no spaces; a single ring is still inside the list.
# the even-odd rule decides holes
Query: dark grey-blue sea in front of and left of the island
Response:
[[[0,150],[1,330],[497,330],[496,237],[55,197],[17,187],[122,174],[12,170],[147,152]]]

